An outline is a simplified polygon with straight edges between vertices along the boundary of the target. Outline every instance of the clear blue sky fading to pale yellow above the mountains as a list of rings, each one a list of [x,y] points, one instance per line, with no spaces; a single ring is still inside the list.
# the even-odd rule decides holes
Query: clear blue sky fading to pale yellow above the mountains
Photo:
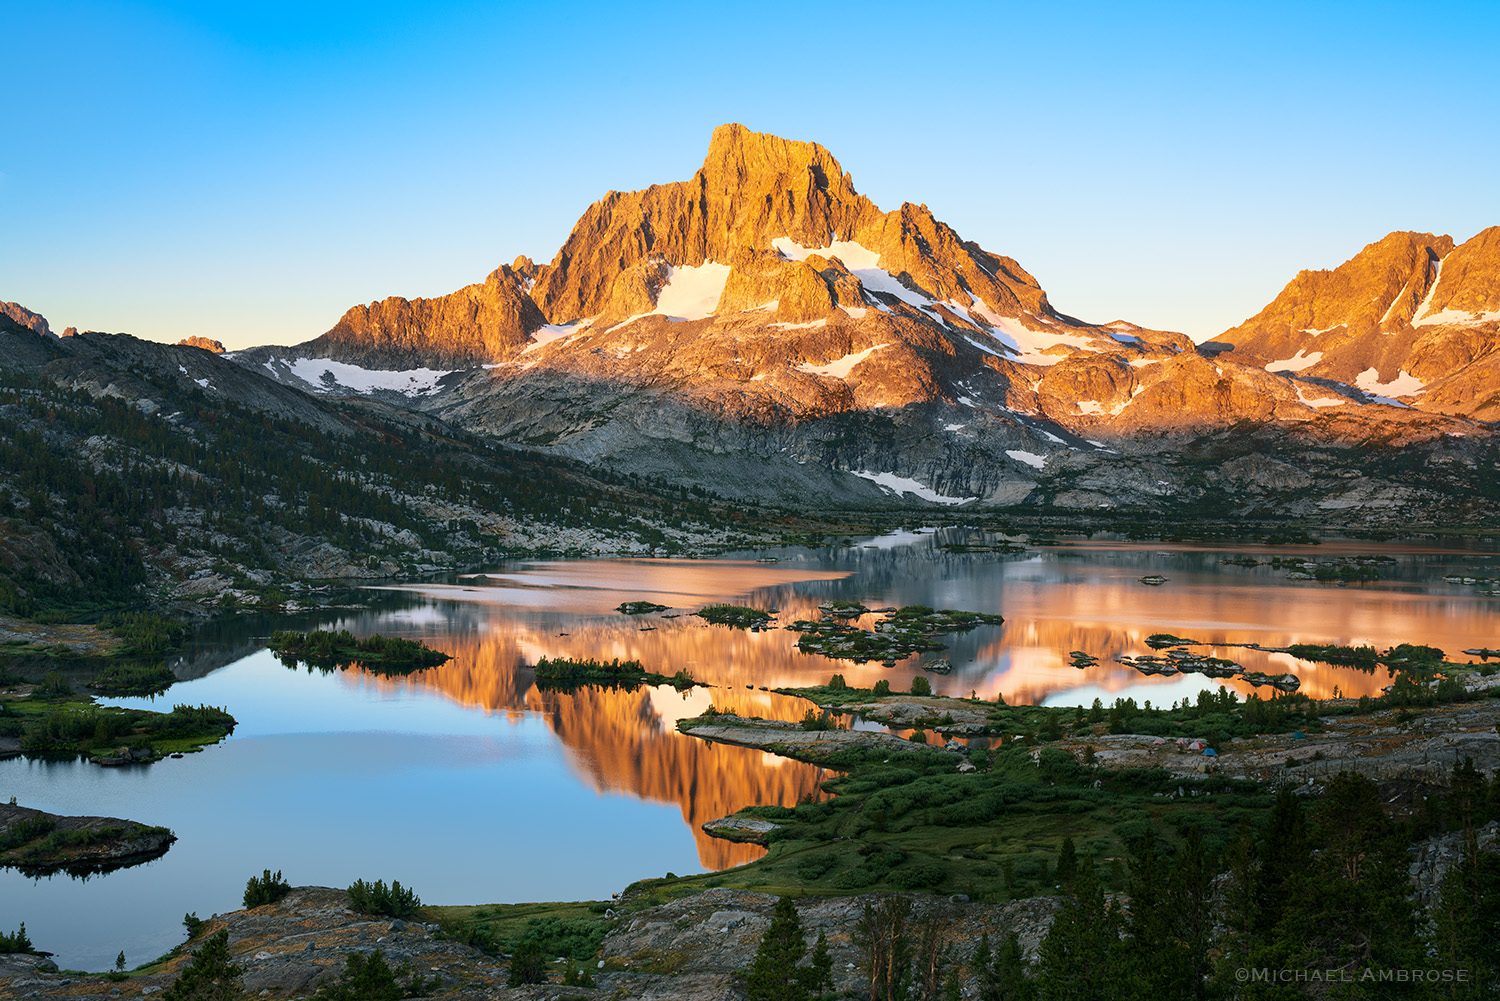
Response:
[[[1494,3],[0,0],[0,300],[54,329],[303,341],[550,260],[723,122],[1194,338],[1500,224]]]

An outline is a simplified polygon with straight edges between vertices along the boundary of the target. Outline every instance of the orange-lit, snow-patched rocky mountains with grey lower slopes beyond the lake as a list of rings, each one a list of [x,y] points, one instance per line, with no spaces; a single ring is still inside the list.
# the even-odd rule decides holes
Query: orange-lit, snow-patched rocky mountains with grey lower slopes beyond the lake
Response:
[[[234,360],[750,500],[1305,516],[1347,479],[1311,449],[1468,438],[1460,462],[1492,461],[1474,419],[1500,414],[1497,338],[1500,230],[1390,234],[1194,345],[1071,317],[926,206],[880,210],[816,143],[726,125],[692,177],[606,194],[549,263]],[[1228,447],[1185,456],[1212,435]],[[1320,479],[1245,504],[1188,468],[1250,452]],[[1444,507],[1464,476],[1412,486],[1424,516],[1470,516]]]

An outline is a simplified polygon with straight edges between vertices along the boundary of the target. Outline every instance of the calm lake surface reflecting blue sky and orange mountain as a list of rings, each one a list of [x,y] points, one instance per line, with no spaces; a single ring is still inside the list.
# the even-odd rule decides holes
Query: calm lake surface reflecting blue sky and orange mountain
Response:
[[[344,887],[400,879],[428,903],[600,899],[664,872],[740,864],[750,845],[699,825],[752,803],[819,795],[825,773],[742,747],[694,741],[678,719],[710,704],[796,719],[806,702],[759,687],[888,678],[909,687],[924,657],[894,668],[804,654],[798,633],[708,626],[692,612],[730,600],[818,618],[820,600],[932,605],[1000,612],[1004,626],[948,636],[940,693],[1054,705],[1119,696],[1156,705],[1239,681],[1143,677],[1116,663],[1150,653],[1144,638],[1263,645],[1400,642],[1500,647],[1500,597],[1444,576],[1500,576],[1492,552],[1410,545],[1166,546],[1077,543],[1024,554],[954,554],[970,533],[896,533],[824,551],[746,560],[597,560],[508,564],[488,575],[380,588],[370,608],[282,623],[206,627],[176,665],[174,702],[228,708],[240,722],[219,746],[135,768],[0,761],[0,797],[57,813],[124,816],[171,827],[160,860],[87,881],[0,870],[0,930],[26,921],[64,968],[105,969],[122,948],[150,960],[183,939],[182,917],[240,906],[244,881],[280,869],[292,884]],[[1288,581],[1286,569],[1220,564],[1226,557],[1380,554],[1377,584]],[[1140,584],[1143,575],[1168,578]],[[648,599],[680,617],[627,617]],[[669,612],[669,614],[672,614]],[[864,620],[864,624],[874,618]],[[264,650],[272,627],[321,626],[423,639],[448,663],[388,680],[363,671],[288,669]],[[1076,669],[1070,651],[1100,657]],[[1214,650],[1246,671],[1292,672],[1316,698],[1378,693],[1360,674],[1238,647]],[[711,689],[538,692],[538,657],[634,657],[662,674],[686,668]],[[1262,690],[1263,695],[1269,689]],[[146,699],[111,699],[152,705]]]

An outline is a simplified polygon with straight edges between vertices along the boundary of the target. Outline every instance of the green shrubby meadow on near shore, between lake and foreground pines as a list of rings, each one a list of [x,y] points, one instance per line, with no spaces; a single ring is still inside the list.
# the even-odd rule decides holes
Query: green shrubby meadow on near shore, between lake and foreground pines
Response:
[[[916,890],[1000,902],[1053,893],[1065,837],[1104,866],[1142,839],[1170,851],[1190,825],[1224,848],[1272,801],[1254,782],[1095,770],[1056,747],[1042,749],[1040,762],[1020,744],[975,752],[974,759],[981,771],[958,774],[950,755],[860,750],[824,758],[844,773],[825,783],[834,798],[740,812],[783,825],[764,858],[717,873],[644,879],[626,897],[664,902],[722,885],[830,896]],[[1179,800],[1179,786],[1212,795]]]

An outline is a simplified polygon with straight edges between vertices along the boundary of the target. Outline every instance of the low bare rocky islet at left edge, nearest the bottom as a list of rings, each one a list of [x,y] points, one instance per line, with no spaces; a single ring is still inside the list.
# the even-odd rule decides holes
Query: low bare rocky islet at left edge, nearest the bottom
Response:
[[[58,816],[0,803],[0,866],[90,875],[160,858],[177,836],[117,816]]]

